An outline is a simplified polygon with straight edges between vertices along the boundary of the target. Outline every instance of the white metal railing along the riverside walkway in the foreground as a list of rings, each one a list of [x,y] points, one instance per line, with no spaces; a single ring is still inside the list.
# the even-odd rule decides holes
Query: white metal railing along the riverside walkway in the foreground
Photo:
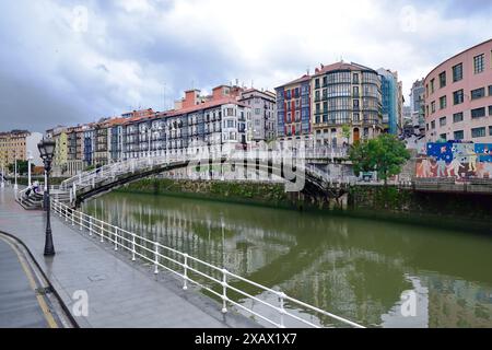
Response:
[[[285,304],[290,303],[290,305],[302,308],[306,313],[318,315],[318,317],[329,317],[347,326],[364,328],[354,322],[291,298],[281,291],[270,289],[230,272],[225,268],[213,266],[186,253],[181,253],[159,242],[151,241],[136,233],[104,222],[82,211],[71,209],[59,201],[51,201],[51,207],[55,214],[65,218],[65,221],[72,226],[79,226],[80,231],[86,230],[90,236],[96,235],[101,238],[101,242],[107,241],[114,244],[115,250],[128,250],[131,254],[132,261],[139,257],[154,266],[154,273],[159,273],[160,269],[164,269],[183,279],[184,290],[188,289],[188,283],[203,288],[222,301],[222,313],[224,314],[227,312],[227,305],[234,305],[274,327],[285,328],[285,319],[291,318],[306,326],[321,328],[320,325],[307,320],[285,308]],[[203,280],[199,280],[200,278]],[[278,303],[273,304],[270,301],[255,296],[253,293],[244,291],[246,288],[239,289],[234,287],[231,283],[233,280],[244,283],[249,289],[255,288],[258,291],[261,291],[261,293],[267,292],[273,294],[278,298]],[[215,289],[211,285],[207,285],[203,281],[214,284]],[[265,306],[266,310],[269,310],[269,312],[261,313],[261,310],[253,310],[253,306],[248,307],[247,305],[241,304],[231,298],[232,293],[259,303]],[[278,316],[277,319],[272,319],[272,312]]]

